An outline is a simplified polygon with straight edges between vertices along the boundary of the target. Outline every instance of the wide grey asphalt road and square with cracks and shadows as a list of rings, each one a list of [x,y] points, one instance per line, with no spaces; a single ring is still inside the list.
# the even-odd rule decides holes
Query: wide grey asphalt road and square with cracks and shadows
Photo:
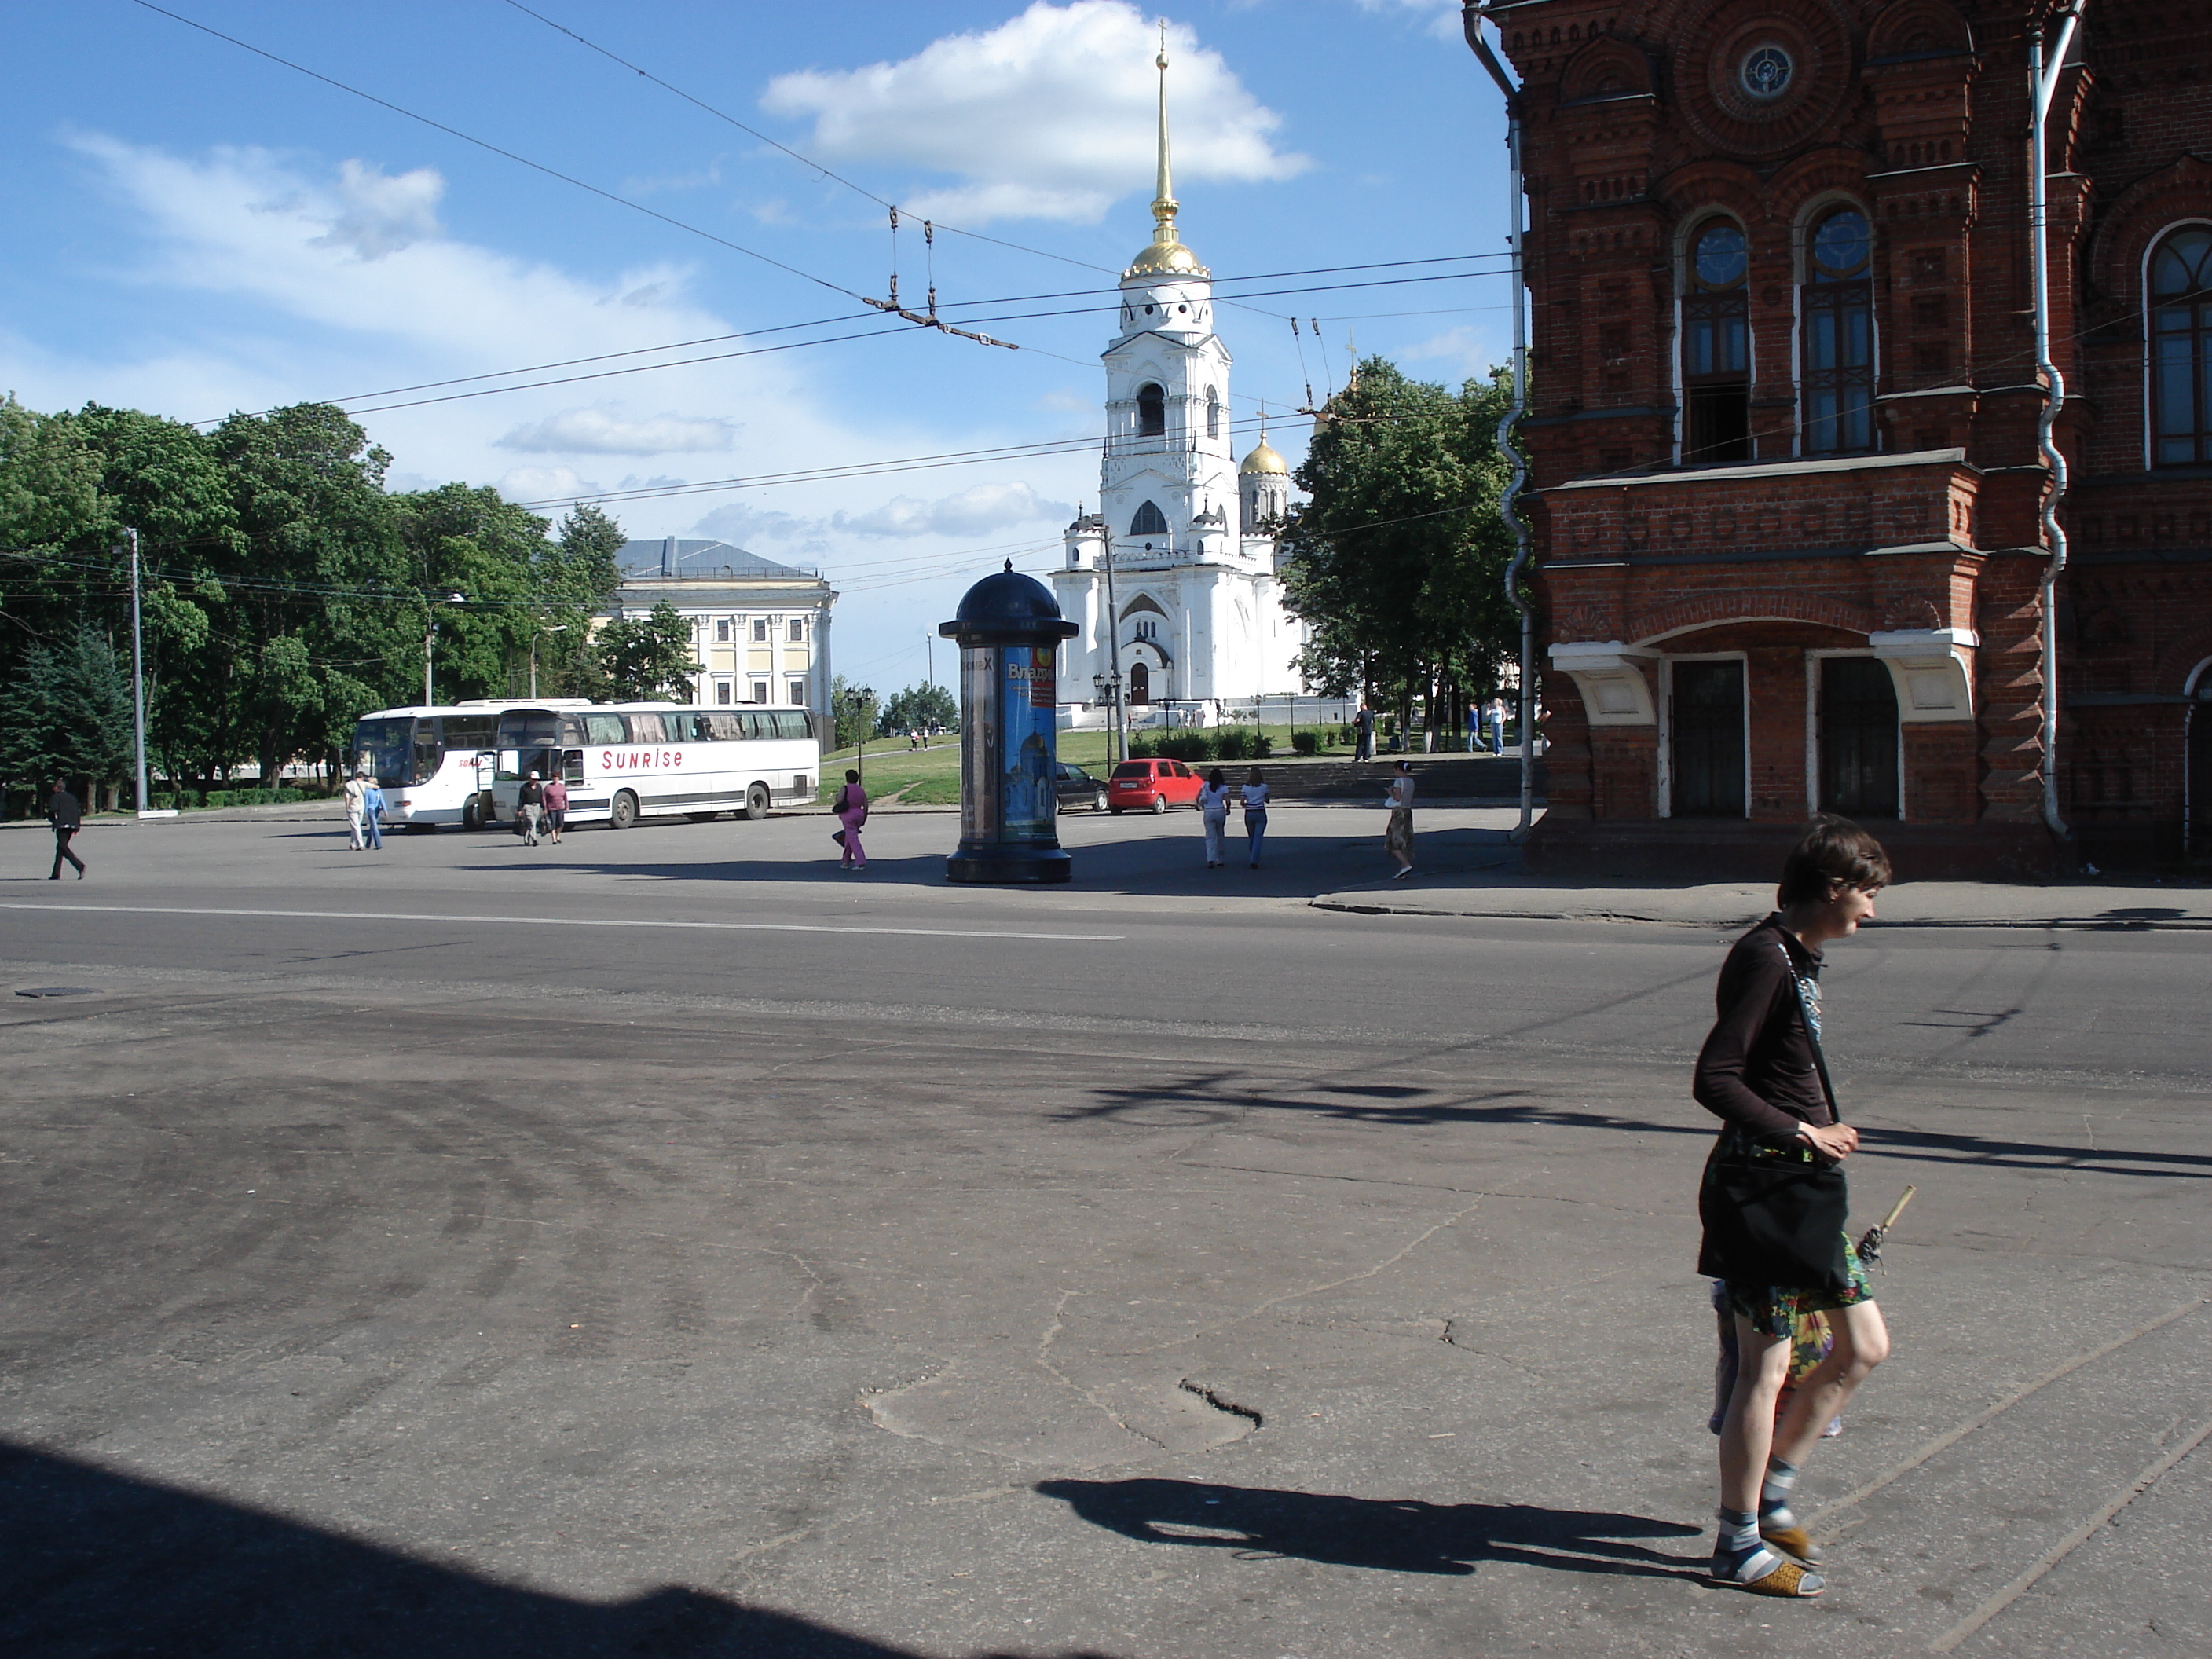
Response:
[[[1920,1197],[1781,1606],[1699,1582],[1725,936],[1310,909],[1378,816],[0,832],[91,991],[0,998],[0,1650],[2212,1648],[2199,936],[1834,947]]]

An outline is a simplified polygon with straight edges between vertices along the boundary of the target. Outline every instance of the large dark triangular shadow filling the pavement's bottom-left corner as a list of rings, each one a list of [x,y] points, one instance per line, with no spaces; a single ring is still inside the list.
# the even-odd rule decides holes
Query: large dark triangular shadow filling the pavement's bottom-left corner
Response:
[[[9,1442],[0,1442],[0,1652],[925,1659],[699,1590],[595,1604],[495,1584]]]

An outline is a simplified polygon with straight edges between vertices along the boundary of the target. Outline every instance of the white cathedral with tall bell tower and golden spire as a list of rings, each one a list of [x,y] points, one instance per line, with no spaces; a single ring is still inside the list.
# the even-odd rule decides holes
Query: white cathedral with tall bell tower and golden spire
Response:
[[[1232,460],[1212,272],[1175,230],[1166,53],[1159,71],[1152,241],[1121,272],[1121,330],[1104,352],[1099,511],[1068,524],[1053,571],[1060,615],[1082,630],[1062,646],[1060,697],[1093,701],[1119,637],[1133,712],[1168,703],[1212,723],[1225,706],[1301,690],[1305,633],[1276,573],[1290,469],[1265,429]]]

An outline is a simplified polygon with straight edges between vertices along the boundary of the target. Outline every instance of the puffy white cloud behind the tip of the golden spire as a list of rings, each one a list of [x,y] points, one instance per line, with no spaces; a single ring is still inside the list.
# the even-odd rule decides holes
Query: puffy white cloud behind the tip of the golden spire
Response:
[[[1126,0],[1037,0],[998,29],[945,35],[896,64],[779,75],[761,106],[812,117],[816,155],[960,179],[911,197],[918,215],[1095,223],[1150,186],[1157,51],[1155,27]],[[1310,166],[1274,148],[1283,117],[1190,29],[1168,27],[1168,58],[1177,179],[1290,179]]]

